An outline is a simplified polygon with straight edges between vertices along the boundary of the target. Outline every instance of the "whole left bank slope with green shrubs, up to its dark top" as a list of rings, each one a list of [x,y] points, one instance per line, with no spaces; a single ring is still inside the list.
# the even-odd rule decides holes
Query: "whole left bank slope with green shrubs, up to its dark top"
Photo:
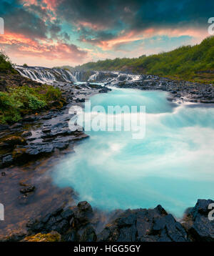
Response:
[[[25,114],[36,114],[42,109],[63,106],[64,99],[59,89],[47,84],[35,84],[23,77],[20,79],[20,74],[4,52],[0,52],[0,74],[1,124],[12,124]],[[13,84],[10,85],[8,81],[13,81]]]

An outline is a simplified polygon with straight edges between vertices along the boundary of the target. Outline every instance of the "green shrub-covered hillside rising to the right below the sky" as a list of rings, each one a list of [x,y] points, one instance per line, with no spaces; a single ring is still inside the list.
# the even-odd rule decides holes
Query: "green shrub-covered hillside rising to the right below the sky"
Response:
[[[133,59],[88,62],[75,69],[121,70],[214,84],[214,36],[195,46],[181,46],[173,51]]]

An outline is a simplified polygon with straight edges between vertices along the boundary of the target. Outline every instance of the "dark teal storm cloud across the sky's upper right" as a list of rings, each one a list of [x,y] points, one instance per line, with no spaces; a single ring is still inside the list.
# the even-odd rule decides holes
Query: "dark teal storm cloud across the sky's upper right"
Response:
[[[118,36],[123,29],[207,26],[213,10],[214,1],[201,0],[61,0],[56,14],[59,19],[74,24],[91,24],[88,33],[80,26],[85,39],[90,41],[88,34],[96,36],[96,40],[105,40]],[[108,33],[101,34],[98,30],[108,30]]]

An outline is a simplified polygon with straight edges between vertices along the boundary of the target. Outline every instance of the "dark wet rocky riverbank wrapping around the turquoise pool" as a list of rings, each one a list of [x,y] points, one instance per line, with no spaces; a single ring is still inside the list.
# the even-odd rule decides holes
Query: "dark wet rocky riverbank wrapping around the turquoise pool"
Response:
[[[214,102],[213,86],[143,75],[135,82],[123,79],[126,78],[121,77],[120,82],[111,85],[161,89],[169,92],[168,100],[176,102]],[[213,222],[207,217],[211,201],[198,201],[180,222],[161,206],[154,210],[118,210],[110,214],[92,210],[87,202],[68,207],[76,203],[78,195],[71,188],[55,187],[48,174],[63,155],[73,152],[76,142],[88,137],[84,132],[77,129],[71,132],[68,128],[68,121],[73,117],[68,109],[108,89],[90,83],[55,86],[66,98],[67,104],[61,109],[31,114],[14,125],[0,126],[3,195],[0,202],[8,212],[6,221],[0,222],[1,240],[49,240],[51,237],[66,241],[213,241]],[[29,218],[33,220],[26,226]]]

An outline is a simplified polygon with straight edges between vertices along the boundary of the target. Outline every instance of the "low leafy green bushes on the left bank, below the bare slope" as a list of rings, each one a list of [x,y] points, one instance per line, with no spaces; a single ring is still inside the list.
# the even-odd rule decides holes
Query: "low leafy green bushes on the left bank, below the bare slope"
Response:
[[[8,92],[0,92],[0,122],[12,124],[24,114],[36,113],[58,99],[61,91],[49,85],[10,87]]]

